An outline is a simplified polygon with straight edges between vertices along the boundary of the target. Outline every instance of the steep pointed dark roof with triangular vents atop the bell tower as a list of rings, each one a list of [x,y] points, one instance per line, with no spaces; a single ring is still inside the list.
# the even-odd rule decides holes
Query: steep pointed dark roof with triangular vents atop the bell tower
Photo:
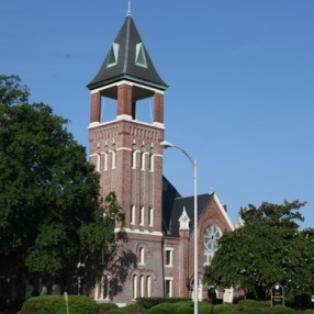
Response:
[[[130,11],[88,88],[92,90],[123,79],[161,90],[168,87],[155,69]]]

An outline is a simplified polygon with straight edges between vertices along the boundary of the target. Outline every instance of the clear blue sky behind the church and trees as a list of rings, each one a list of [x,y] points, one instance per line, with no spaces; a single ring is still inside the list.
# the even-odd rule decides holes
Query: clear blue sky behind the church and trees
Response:
[[[69,119],[85,146],[86,85],[126,11],[127,0],[1,0],[0,72]],[[217,192],[234,223],[249,203],[306,201],[302,227],[314,227],[314,1],[133,0],[132,12],[169,85],[166,138],[198,160],[199,193]],[[168,179],[193,194],[184,156],[164,156]]]

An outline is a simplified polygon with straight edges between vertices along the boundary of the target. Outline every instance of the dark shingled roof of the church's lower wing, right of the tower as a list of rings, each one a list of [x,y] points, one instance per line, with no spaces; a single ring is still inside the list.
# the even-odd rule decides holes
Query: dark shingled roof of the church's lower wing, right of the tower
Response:
[[[198,217],[202,215],[214,193],[198,195]],[[175,187],[164,177],[162,180],[162,229],[170,236],[179,236],[179,218],[186,208],[190,218],[190,231],[194,226],[194,195],[182,198]]]

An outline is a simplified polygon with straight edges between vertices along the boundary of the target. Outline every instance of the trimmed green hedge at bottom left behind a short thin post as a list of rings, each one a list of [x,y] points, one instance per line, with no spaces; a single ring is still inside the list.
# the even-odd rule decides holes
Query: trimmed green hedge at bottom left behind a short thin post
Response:
[[[19,314],[65,314],[66,302],[61,295],[43,295],[27,299]],[[98,314],[97,303],[89,296],[69,295],[69,313]]]

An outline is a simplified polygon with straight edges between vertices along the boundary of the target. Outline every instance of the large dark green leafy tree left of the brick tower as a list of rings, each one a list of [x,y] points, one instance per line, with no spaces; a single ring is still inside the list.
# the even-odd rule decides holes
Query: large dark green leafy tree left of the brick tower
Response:
[[[54,274],[109,247],[123,216],[114,193],[99,198],[99,175],[68,121],[29,96],[18,76],[0,76],[0,253]]]

